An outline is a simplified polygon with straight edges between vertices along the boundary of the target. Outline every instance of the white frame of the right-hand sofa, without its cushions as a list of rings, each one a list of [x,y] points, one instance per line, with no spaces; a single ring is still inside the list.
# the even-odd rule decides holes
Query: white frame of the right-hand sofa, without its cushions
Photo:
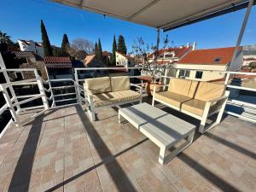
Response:
[[[169,84],[162,84],[162,85],[158,85],[158,86],[163,86],[163,87],[169,87]],[[206,106],[204,108],[204,112],[202,116],[196,115],[195,113],[190,113],[186,110],[183,110],[181,108],[177,108],[176,106],[171,105],[170,103],[167,102],[163,102],[160,99],[157,99],[154,97],[155,94],[155,88],[154,87],[154,93],[153,93],[153,99],[152,99],[152,106],[154,106],[154,102],[160,102],[166,106],[168,106],[169,108],[173,108],[181,113],[185,113],[195,119],[199,119],[201,120],[200,123],[200,127],[199,127],[199,132],[201,132],[202,134],[209,131],[210,129],[212,129],[214,126],[218,125],[222,119],[223,113],[224,113],[224,108],[226,106],[226,103],[228,101],[228,98],[230,96],[230,91],[229,90],[225,90],[224,96],[220,96],[216,99],[212,99],[211,101],[207,101],[206,102]],[[213,111],[212,113],[209,113],[211,107],[212,107],[212,103],[216,103],[216,102],[221,102],[221,108],[218,108],[217,110]],[[207,124],[207,119],[212,116],[213,114],[218,113],[217,119],[216,121],[214,121],[211,125],[206,127]]]

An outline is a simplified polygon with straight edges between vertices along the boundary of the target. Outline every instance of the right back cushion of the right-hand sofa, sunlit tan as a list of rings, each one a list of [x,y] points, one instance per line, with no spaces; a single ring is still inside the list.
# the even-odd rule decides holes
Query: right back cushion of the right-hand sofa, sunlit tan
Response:
[[[224,96],[225,88],[224,84],[200,82],[195,92],[195,99],[207,102],[220,96]]]

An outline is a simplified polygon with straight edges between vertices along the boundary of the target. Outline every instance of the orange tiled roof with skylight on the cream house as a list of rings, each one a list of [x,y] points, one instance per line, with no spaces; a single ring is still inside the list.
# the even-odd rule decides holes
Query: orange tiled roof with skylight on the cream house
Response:
[[[177,63],[199,65],[228,65],[232,60],[235,49],[235,47],[227,47],[218,49],[191,50]]]

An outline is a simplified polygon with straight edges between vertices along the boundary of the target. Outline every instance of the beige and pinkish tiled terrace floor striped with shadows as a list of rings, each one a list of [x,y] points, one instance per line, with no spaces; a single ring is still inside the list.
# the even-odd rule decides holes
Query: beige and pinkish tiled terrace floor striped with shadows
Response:
[[[256,191],[253,124],[227,116],[161,166],[159,148],[119,125],[115,108],[98,118],[73,106],[11,127],[0,139],[0,191]]]

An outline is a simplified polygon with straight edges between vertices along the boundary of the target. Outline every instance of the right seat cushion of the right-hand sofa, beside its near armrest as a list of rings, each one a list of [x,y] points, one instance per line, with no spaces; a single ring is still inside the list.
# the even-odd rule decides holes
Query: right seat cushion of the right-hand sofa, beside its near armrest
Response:
[[[181,109],[202,117],[205,107],[206,102],[192,99],[187,102],[183,102]],[[216,111],[218,108],[221,108],[221,106],[217,105],[217,103],[212,103],[209,113]]]

